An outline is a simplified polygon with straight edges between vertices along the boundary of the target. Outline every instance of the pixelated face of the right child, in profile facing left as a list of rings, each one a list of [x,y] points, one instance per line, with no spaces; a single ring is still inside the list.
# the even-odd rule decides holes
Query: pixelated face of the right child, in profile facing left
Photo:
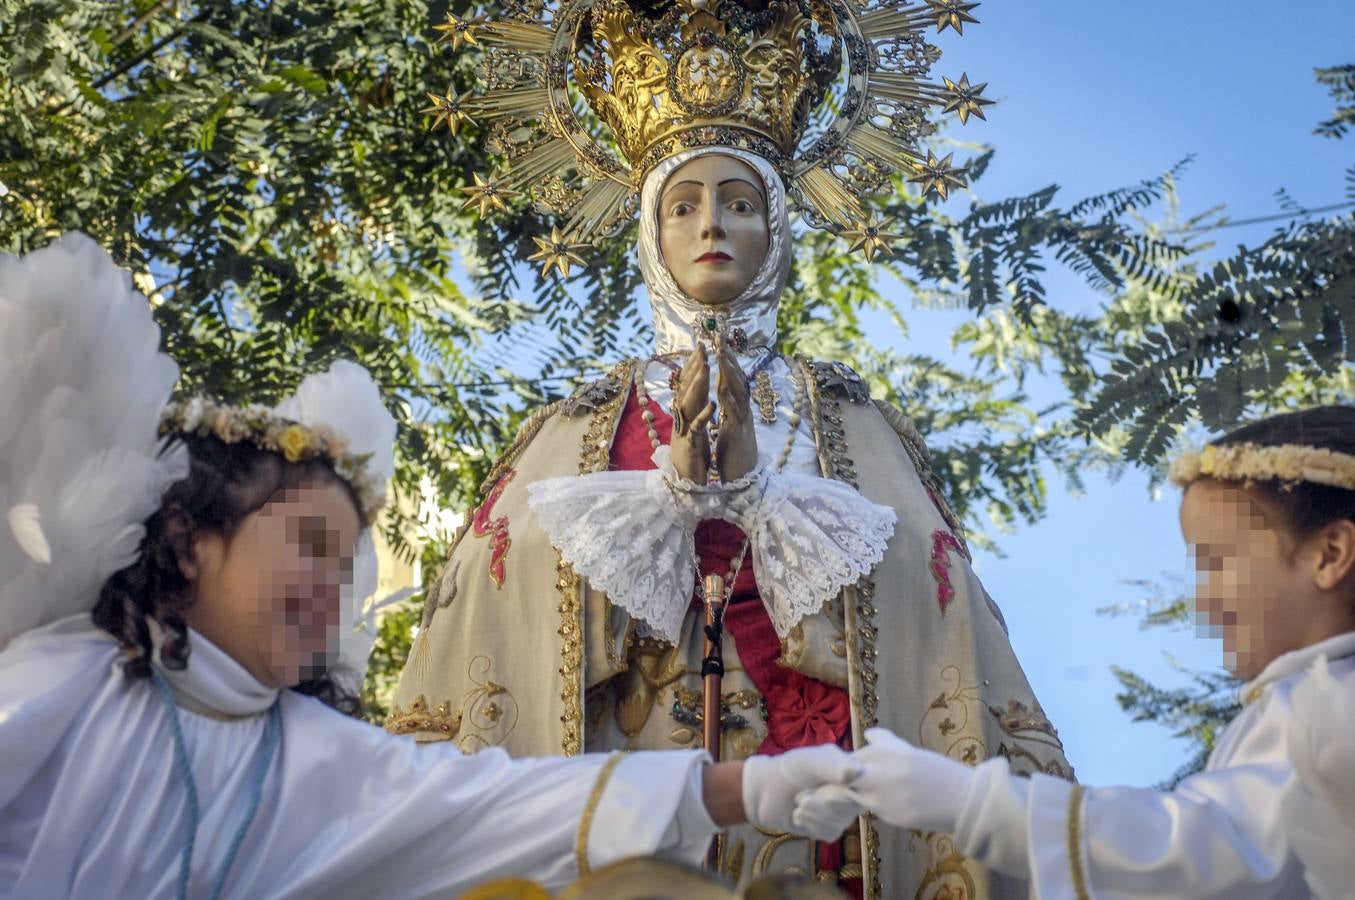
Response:
[[[1211,637],[1224,638],[1224,666],[1233,675],[1255,678],[1275,657],[1313,642],[1309,550],[1291,548],[1245,489],[1196,481],[1180,520],[1195,562],[1196,614]]]

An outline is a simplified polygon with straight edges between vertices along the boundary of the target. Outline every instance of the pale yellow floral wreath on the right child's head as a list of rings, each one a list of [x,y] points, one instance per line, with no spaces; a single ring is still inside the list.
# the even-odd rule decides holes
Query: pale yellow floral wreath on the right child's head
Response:
[[[1297,443],[1206,445],[1172,464],[1173,484],[1187,487],[1198,478],[1221,481],[1279,481],[1293,488],[1302,481],[1355,491],[1355,455]]]

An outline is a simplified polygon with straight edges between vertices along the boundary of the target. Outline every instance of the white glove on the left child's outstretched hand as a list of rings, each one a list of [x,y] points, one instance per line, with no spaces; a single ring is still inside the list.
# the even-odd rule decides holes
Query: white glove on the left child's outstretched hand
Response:
[[[791,821],[795,798],[825,785],[851,783],[860,774],[862,764],[832,744],[801,747],[779,756],[749,756],[744,760],[744,812],[749,824],[768,831],[794,831],[816,840],[832,840],[841,835],[841,828],[795,828]]]

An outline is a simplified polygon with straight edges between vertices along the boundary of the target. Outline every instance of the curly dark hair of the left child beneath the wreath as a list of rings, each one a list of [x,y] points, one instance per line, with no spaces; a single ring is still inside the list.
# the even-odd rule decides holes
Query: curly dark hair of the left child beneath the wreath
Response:
[[[188,664],[188,628],[184,610],[192,599],[179,561],[190,558],[199,531],[232,537],[240,523],[286,488],[337,483],[350,491],[324,461],[287,462],[280,454],[252,443],[225,443],[215,436],[184,435],[188,477],[176,481],[146,520],[137,561],[115,572],[99,591],[93,622],[118,638],[127,660],[129,680],[150,675],[150,622],[164,632],[160,659],[167,668]],[[356,496],[354,506],[356,507]],[[362,701],[327,672],[293,687],[347,716],[362,714]]]

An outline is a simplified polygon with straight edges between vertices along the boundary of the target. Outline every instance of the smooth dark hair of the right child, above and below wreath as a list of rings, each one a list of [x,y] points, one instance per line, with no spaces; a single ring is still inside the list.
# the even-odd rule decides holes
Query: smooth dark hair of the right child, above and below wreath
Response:
[[[1213,443],[1255,443],[1263,447],[1293,443],[1355,455],[1355,407],[1313,407],[1268,416],[1229,431]],[[1298,539],[1332,522],[1355,520],[1355,491],[1313,481],[1293,485],[1253,481],[1249,487],[1263,507],[1274,511],[1280,525]]]

